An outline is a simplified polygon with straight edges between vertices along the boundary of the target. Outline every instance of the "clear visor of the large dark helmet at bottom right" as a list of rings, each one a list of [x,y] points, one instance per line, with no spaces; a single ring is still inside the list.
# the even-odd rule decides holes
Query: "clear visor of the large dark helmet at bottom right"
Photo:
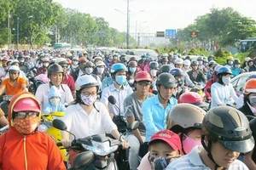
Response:
[[[230,150],[237,151],[240,153],[247,153],[253,150],[253,147],[254,147],[253,136],[250,139],[241,140],[241,141],[218,140],[218,142],[222,144],[225,148],[228,148]]]

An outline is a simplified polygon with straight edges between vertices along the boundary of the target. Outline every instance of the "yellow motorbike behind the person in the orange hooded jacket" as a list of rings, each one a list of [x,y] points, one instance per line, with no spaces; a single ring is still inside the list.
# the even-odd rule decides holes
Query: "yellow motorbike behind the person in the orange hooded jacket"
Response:
[[[41,125],[39,127],[40,131],[48,133],[49,136],[55,140],[56,143],[62,141],[61,132],[59,129],[53,127],[52,122],[55,120],[55,117],[64,116],[64,112],[56,111],[53,114],[43,114]],[[43,126],[42,126],[43,125]],[[46,129],[47,128],[47,129]],[[63,161],[67,165],[67,150],[61,145],[58,145],[59,150],[61,151],[61,156],[63,157]]]

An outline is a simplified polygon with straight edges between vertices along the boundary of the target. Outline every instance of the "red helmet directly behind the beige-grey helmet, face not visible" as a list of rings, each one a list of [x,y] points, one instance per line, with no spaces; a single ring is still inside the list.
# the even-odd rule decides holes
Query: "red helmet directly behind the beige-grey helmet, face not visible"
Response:
[[[192,104],[197,106],[205,106],[205,99],[195,92],[186,92],[177,99],[178,104]]]

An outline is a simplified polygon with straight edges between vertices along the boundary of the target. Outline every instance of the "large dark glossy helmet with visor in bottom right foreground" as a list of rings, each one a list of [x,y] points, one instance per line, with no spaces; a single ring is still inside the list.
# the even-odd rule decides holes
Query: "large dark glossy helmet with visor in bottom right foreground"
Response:
[[[234,107],[221,105],[211,109],[204,117],[202,126],[203,136],[207,136],[209,142],[208,148],[203,144],[208,154],[211,153],[209,145],[212,141],[241,153],[253,150],[254,139],[247,117]]]

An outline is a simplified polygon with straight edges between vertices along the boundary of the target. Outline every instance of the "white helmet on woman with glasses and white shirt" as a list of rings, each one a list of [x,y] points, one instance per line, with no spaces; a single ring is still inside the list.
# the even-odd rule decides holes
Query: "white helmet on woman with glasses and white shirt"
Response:
[[[96,81],[95,77],[90,75],[84,75],[77,79],[75,82],[76,90],[79,91],[81,88],[99,87],[99,83]]]

